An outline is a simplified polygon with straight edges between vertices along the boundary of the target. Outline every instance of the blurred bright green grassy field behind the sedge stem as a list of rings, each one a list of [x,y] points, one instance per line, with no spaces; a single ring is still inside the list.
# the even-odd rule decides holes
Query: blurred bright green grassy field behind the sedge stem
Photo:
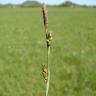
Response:
[[[49,96],[96,96],[96,9],[49,8]],[[0,9],[0,96],[45,96],[42,11]]]

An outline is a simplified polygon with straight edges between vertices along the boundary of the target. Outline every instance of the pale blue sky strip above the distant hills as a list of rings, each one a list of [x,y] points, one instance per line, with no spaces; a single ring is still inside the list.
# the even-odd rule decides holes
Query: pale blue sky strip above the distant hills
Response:
[[[0,0],[0,3],[6,4],[6,3],[22,3],[27,0]],[[32,1],[32,0],[30,0]],[[47,4],[60,4],[65,1],[72,1],[77,4],[87,4],[87,5],[96,5],[96,0],[33,0],[33,1],[40,1],[41,3],[47,3]]]

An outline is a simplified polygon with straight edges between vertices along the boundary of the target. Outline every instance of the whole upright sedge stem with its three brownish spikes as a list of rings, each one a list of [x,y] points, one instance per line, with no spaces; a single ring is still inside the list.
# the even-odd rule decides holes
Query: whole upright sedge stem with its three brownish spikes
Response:
[[[48,96],[49,85],[50,85],[50,46],[52,43],[52,33],[48,31],[48,7],[43,4],[42,6],[43,12],[43,21],[45,28],[45,37],[46,37],[46,45],[47,45],[47,64],[42,66],[42,74],[46,85],[46,96]]]

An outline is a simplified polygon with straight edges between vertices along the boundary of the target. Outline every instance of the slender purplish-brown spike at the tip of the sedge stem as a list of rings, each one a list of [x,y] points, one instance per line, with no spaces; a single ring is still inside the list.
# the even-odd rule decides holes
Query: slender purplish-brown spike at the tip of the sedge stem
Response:
[[[48,27],[48,8],[47,8],[47,5],[43,4],[42,11],[43,11],[44,26],[45,26],[45,29],[47,29],[47,27]]]

